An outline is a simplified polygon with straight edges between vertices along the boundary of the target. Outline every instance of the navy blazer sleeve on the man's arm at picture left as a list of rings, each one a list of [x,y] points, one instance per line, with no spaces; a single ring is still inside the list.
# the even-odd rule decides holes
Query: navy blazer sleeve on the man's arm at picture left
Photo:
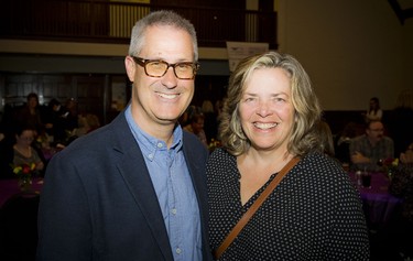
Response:
[[[90,260],[91,217],[85,189],[75,165],[55,156],[41,193],[37,260]]]

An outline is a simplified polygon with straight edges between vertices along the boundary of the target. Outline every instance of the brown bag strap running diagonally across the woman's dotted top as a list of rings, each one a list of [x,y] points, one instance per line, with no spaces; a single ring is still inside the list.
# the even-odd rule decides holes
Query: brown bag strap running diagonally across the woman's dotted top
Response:
[[[232,230],[227,235],[222,243],[214,251],[215,260],[218,260],[222,255],[225,250],[232,243],[232,241],[236,239],[238,233],[248,224],[248,221],[254,215],[254,213],[260,208],[262,203],[270,196],[270,194],[280,184],[281,180],[285,176],[285,174],[289,173],[290,170],[293,168],[293,166],[295,166],[295,164],[297,164],[298,161],[300,161],[298,157],[291,159],[290,162],[286,163],[286,165],[274,177],[274,180],[271,181],[271,183],[265,187],[265,189],[261,193],[261,195],[257,198],[257,200],[243,214],[243,216],[237,222],[237,225],[232,228]]]

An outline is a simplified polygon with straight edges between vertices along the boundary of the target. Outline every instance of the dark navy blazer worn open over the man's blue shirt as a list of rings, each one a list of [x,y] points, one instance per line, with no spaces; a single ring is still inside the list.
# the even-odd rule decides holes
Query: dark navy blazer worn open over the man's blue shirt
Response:
[[[207,150],[184,131],[184,154],[198,199],[203,258],[211,260]],[[173,260],[144,159],[124,111],[75,140],[47,166],[39,210],[37,260]]]

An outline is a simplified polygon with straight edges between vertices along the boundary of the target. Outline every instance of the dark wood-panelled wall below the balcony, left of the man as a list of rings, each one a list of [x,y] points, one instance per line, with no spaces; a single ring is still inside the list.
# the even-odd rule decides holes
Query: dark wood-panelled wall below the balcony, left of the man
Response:
[[[6,74],[0,80],[0,111],[6,106],[14,108],[24,105],[26,96],[35,93],[42,106],[46,106],[53,98],[62,105],[74,98],[79,113],[95,113],[101,123],[106,123],[106,99],[110,100],[107,78],[107,75]]]

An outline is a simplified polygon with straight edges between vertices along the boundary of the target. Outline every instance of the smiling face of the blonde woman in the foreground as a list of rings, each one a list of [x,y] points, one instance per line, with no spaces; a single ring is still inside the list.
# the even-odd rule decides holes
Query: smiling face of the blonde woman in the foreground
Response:
[[[290,85],[282,68],[256,69],[247,80],[239,115],[252,149],[286,151],[294,123]]]

